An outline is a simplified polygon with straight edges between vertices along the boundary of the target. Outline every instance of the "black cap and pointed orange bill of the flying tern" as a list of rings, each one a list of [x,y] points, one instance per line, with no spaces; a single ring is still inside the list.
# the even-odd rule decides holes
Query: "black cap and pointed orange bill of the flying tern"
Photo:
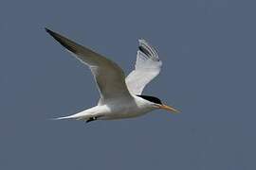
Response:
[[[173,107],[171,106],[168,106],[168,105],[165,105],[162,103],[162,101],[155,97],[155,96],[150,96],[150,95],[137,95],[145,100],[148,100],[152,103],[152,106],[155,108],[155,109],[162,109],[162,110],[168,110],[168,111],[171,111],[173,113],[177,113],[179,112],[178,110],[174,109]]]

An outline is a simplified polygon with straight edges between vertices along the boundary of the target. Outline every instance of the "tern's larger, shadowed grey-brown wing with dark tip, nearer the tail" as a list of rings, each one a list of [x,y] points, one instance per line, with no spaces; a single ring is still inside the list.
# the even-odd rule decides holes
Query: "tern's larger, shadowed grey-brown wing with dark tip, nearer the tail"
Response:
[[[101,103],[113,98],[130,96],[124,73],[118,64],[47,28],[46,32],[82,63],[89,66],[101,93]]]

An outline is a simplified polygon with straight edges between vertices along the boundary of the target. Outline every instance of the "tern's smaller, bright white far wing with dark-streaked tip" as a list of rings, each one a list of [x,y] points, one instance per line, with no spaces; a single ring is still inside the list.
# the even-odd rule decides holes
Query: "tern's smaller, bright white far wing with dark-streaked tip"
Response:
[[[145,40],[138,40],[137,60],[135,70],[126,78],[130,93],[141,94],[144,87],[161,71],[162,61],[155,49]]]

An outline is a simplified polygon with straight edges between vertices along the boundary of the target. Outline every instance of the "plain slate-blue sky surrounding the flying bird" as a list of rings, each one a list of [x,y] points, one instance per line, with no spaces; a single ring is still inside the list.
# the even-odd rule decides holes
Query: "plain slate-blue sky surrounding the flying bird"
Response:
[[[256,169],[254,1],[0,2],[0,169]],[[137,39],[162,72],[145,89],[181,110],[51,121],[94,106],[86,66],[44,27],[133,68]]]

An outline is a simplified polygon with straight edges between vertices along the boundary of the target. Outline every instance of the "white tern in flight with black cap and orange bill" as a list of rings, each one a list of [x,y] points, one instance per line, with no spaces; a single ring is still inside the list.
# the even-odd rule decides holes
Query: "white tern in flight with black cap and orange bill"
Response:
[[[141,94],[144,87],[159,74],[162,65],[155,49],[145,40],[138,40],[135,70],[125,78],[122,69],[112,60],[106,59],[48,28],[46,28],[46,32],[90,68],[101,95],[97,106],[57,119],[90,122],[98,119],[137,117],[157,109],[178,112],[173,107],[164,105],[155,96]]]

